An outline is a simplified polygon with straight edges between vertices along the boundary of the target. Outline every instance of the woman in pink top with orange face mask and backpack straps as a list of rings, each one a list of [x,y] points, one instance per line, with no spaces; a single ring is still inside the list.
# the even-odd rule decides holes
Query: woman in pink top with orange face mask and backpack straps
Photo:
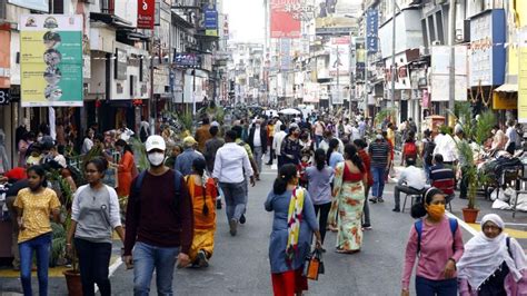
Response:
[[[411,217],[419,219],[410,230],[402,270],[402,296],[409,296],[411,270],[417,260],[416,293],[418,296],[456,296],[456,263],[463,255],[461,230],[456,219],[445,215],[445,196],[430,187],[424,203],[411,207]]]

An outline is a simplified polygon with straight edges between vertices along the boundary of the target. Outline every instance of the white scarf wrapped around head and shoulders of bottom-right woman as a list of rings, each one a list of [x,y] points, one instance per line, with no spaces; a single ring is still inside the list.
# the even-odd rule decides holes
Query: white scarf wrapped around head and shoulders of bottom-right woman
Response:
[[[483,227],[487,221],[495,223],[501,229],[501,234],[495,238],[485,236]],[[481,219],[481,231],[465,245],[465,253],[456,267],[458,269],[458,277],[467,279],[473,289],[478,289],[504,262],[509,267],[510,274],[516,282],[521,278],[519,273],[521,267],[516,266],[515,260],[507,250],[507,234],[503,233],[504,225],[498,215],[486,215]]]

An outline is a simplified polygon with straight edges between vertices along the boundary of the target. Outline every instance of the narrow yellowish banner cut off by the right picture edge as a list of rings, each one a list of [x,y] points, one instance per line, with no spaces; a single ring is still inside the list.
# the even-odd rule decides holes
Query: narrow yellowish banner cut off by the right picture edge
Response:
[[[527,124],[527,27],[518,41],[518,122]]]

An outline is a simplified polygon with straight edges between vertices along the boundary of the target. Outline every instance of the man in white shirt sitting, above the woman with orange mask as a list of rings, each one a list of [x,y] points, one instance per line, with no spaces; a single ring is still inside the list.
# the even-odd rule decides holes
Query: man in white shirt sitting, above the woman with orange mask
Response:
[[[397,182],[394,196],[395,196],[395,208],[392,211],[400,211],[400,193],[407,195],[419,195],[426,186],[425,172],[420,168],[416,168],[415,159],[406,160],[407,167],[400,172],[399,181]]]

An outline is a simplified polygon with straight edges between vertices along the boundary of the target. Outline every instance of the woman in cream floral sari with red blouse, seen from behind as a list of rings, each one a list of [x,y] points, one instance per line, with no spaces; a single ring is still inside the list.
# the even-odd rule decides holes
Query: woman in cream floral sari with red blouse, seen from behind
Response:
[[[354,145],[346,145],[345,161],[335,168],[334,201],[329,224],[338,228],[337,253],[354,254],[362,245],[362,209],[367,174]],[[338,213],[338,225],[335,220]]]

